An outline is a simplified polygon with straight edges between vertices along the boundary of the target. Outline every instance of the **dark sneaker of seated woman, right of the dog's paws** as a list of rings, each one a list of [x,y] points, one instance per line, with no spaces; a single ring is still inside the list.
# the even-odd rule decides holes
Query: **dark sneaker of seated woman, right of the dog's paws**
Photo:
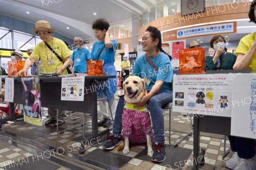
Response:
[[[152,155],[152,161],[163,162],[165,160],[166,145],[164,143],[155,144],[154,153]]]

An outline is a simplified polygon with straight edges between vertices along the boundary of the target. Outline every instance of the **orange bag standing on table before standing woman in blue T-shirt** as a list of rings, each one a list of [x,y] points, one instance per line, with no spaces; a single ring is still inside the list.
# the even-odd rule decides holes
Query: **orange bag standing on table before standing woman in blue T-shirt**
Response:
[[[105,49],[105,45],[99,52],[99,55]],[[97,60],[87,61],[87,75],[103,75],[103,61],[99,60],[99,55]]]

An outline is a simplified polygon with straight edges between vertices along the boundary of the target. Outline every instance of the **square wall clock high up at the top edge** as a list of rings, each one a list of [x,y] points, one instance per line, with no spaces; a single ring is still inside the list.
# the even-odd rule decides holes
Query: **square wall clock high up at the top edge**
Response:
[[[196,14],[205,11],[204,0],[181,0],[181,15]]]

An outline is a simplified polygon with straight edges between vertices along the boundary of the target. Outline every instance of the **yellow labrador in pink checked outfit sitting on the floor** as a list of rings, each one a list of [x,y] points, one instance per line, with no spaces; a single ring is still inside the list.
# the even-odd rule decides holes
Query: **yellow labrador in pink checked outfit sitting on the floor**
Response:
[[[150,114],[146,106],[138,109],[134,103],[146,94],[145,82],[137,76],[126,78],[123,83],[124,98],[126,101],[122,114],[122,137],[125,139],[123,154],[129,153],[129,142],[145,143],[148,146],[148,156],[152,157],[152,140],[154,134],[151,130]]]

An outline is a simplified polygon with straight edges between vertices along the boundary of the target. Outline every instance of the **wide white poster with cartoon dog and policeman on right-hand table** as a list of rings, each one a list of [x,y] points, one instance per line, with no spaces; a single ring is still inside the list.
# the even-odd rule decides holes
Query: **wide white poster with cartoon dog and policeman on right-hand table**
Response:
[[[232,76],[174,75],[173,111],[231,117]]]

